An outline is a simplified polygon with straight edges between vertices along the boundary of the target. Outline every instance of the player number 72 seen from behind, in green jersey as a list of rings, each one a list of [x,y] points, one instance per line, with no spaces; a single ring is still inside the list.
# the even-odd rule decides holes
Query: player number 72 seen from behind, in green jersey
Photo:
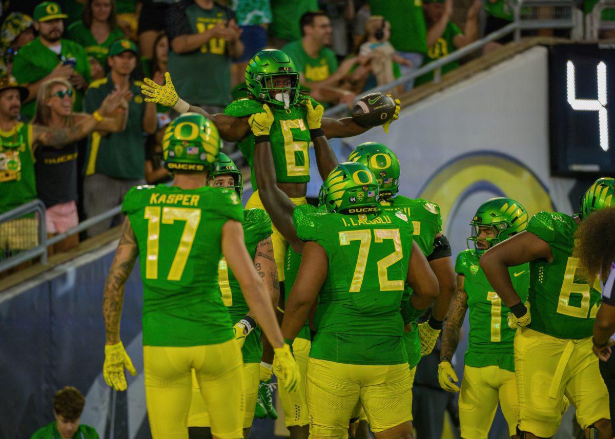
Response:
[[[360,405],[376,439],[411,438],[412,379],[399,309],[407,282],[409,312],[424,312],[437,279],[411,239],[407,215],[379,208],[367,167],[340,164],[324,186],[330,213],[295,217],[305,245],[282,322],[290,343],[318,299],[306,383],[310,437],[347,437]]]

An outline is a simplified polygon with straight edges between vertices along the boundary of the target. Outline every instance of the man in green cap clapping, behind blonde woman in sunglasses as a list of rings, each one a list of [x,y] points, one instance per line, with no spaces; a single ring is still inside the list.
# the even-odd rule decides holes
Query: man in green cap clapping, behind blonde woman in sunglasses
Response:
[[[110,73],[92,82],[85,93],[85,111],[93,113],[113,90],[132,92],[124,131],[97,131],[88,140],[83,192],[85,213],[90,218],[121,204],[132,186],[145,183],[146,136],[143,132],[154,134],[158,121],[156,104],[143,101],[141,82],[130,79],[137,67],[137,54],[137,45],[132,41],[114,42],[107,60]],[[109,218],[90,227],[88,234],[93,236],[104,232],[113,220]]]

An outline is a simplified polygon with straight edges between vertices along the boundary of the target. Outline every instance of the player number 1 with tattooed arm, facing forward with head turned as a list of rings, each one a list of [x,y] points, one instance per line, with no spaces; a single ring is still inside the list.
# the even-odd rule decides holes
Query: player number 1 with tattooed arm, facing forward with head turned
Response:
[[[469,346],[459,393],[463,439],[487,439],[498,401],[510,437],[518,439],[519,406],[512,349],[515,330],[508,327],[509,309],[502,306],[502,299],[493,292],[478,261],[485,250],[522,232],[527,223],[528,213],[517,201],[504,197],[487,200],[478,207],[470,222],[472,235],[468,238],[468,249],[457,255],[457,289],[442,333],[438,381],[447,392],[459,392],[454,384],[459,380],[451,366],[451,358],[469,309]],[[508,271],[515,291],[525,302],[530,286],[530,265],[509,267]]]

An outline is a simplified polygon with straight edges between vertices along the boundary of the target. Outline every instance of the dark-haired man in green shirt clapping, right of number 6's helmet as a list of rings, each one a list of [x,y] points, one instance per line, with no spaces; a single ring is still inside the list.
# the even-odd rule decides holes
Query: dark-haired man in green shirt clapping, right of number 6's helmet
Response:
[[[351,57],[338,66],[335,53],[327,47],[331,43],[331,21],[324,12],[306,12],[300,25],[301,39],[289,42],[282,50],[295,63],[301,85],[311,89],[310,94],[319,102],[343,102],[352,107],[355,93],[362,90],[369,75],[369,69],[362,65],[367,59]]]

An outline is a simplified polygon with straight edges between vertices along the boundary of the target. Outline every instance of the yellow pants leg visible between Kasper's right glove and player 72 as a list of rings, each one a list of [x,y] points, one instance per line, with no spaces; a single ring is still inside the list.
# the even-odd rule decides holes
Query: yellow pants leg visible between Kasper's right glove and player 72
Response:
[[[278,390],[280,392],[280,401],[282,401],[282,409],[284,410],[284,424],[287,427],[309,424],[305,383],[306,371],[308,370],[309,350],[311,346],[311,342],[304,338],[296,338],[295,341],[293,341],[293,355],[295,355],[295,361],[299,366],[299,373],[301,375],[300,389],[289,394],[284,386],[284,381],[281,379],[277,380]]]

